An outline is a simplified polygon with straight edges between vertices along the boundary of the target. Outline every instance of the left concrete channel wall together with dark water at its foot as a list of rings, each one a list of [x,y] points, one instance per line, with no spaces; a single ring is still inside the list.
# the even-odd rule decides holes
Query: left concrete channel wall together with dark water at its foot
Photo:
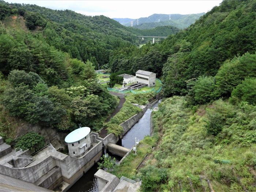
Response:
[[[106,149],[108,149],[109,143],[116,144],[118,140],[125,137],[125,134],[128,134],[133,125],[135,125],[144,114],[147,116],[147,110],[150,109],[155,102],[157,102],[156,99],[151,101],[151,104],[149,103],[144,106],[142,112],[122,123],[121,126],[124,128],[124,134],[120,137],[109,134],[105,138],[101,138],[98,133],[91,132],[90,140],[92,144],[89,150],[81,157],[76,158],[65,155],[47,147],[36,154],[37,157],[33,156],[35,161],[31,162],[26,167],[15,167],[9,162],[0,164],[1,174],[54,191],[97,192],[98,184],[97,182],[95,183],[97,180],[94,179],[94,174],[97,172],[96,162],[98,162],[102,154],[104,154],[102,146],[106,146]],[[150,125],[147,127],[150,129]],[[150,135],[150,131],[147,134]],[[133,137],[133,135],[131,137]],[[133,139],[134,138],[132,138],[132,140]],[[25,153],[24,151],[21,155],[30,154],[32,153],[29,153],[29,151]],[[81,182],[79,181],[84,185],[81,186]],[[24,188],[24,190],[30,190],[30,188],[27,187]]]

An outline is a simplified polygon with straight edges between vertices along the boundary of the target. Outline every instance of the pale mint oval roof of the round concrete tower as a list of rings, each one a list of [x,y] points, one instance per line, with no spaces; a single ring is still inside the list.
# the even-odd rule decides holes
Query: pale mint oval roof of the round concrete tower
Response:
[[[89,133],[91,129],[89,127],[82,127],[79,129],[76,129],[69,133],[66,138],[66,143],[75,143],[77,141],[80,141],[81,139],[85,138]]]

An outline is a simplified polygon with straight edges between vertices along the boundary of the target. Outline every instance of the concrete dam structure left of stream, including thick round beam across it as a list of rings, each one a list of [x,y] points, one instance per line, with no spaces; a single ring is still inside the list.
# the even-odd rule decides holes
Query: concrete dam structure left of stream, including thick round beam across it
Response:
[[[9,176],[10,180],[16,179],[29,182],[33,186],[43,187],[45,189],[56,189],[58,191],[67,191],[80,177],[83,176],[103,155],[102,147],[105,146],[106,149],[120,156],[124,156],[129,152],[129,149],[121,146],[116,146],[115,144],[122,138],[129,129],[137,123],[137,121],[143,116],[148,108],[151,108],[153,104],[148,104],[144,106],[143,111],[129,118],[124,123],[120,124],[124,132],[120,137],[116,137],[114,134],[109,134],[105,138],[100,138],[98,133],[91,132],[86,138],[84,137],[80,141],[86,142],[88,146],[83,146],[81,148],[81,156],[74,157],[71,155],[66,155],[55,150],[51,145],[42,148],[40,151],[31,155],[31,151],[23,151],[17,159],[11,158],[8,161],[3,161],[0,163],[0,173]],[[89,145],[90,140],[90,145]],[[75,142],[78,142],[75,141]],[[73,142],[73,141],[72,141]],[[71,142],[71,149],[72,149]],[[78,143],[79,144],[79,143]],[[76,151],[74,151],[76,155]],[[112,153],[111,152],[111,153]],[[17,153],[12,151],[11,153]],[[10,154],[11,154],[10,153]],[[73,152],[72,152],[73,153]],[[7,154],[8,155],[8,154]],[[21,158],[22,155],[27,158],[32,158],[33,160],[26,160]],[[6,155],[5,155],[6,156]],[[6,157],[2,158],[6,158]],[[10,155],[9,155],[10,156]],[[19,160],[18,160],[19,159]],[[22,160],[23,159],[23,160]],[[1,161],[2,159],[0,159]],[[20,163],[26,162],[26,163]],[[3,182],[0,181],[2,184]],[[11,181],[10,181],[11,183]],[[26,185],[26,190],[31,191],[32,189],[29,185]],[[31,185],[32,186],[32,185]],[[33,191],[33,190],[32,190]]]

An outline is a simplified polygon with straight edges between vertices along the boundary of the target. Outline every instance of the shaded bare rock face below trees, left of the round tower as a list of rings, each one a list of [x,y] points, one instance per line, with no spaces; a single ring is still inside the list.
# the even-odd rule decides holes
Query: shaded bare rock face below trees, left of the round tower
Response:
[[[67,146],[64,139],[68,135],[68,132],[59,132],[57,129],[41,127],[38,124],[22,123],[17,127],[16,138],[23,136],[28,132],[37,132],[38,134],[44,136],[45,142],[51,143],[56,150],[59,148],[65,148],[65,146]]]

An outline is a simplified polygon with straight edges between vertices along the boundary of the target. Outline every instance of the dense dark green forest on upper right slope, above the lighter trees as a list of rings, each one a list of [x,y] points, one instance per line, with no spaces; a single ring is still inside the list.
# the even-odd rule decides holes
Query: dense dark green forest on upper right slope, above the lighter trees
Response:
[[[255,0],[225,0],[187,29],[169,35],[160,44],[115,50],[112,71],[143,69],[162,75],[164,95],[185,95],[187,81],[215,76],[226,60],[256,48]],[[162,70],[161,70],[162,69]]]

